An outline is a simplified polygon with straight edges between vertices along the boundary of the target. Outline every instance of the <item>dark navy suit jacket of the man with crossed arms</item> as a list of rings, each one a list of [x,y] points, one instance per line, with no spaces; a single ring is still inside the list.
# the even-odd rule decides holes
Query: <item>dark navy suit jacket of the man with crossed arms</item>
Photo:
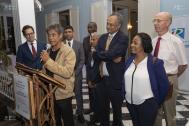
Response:
[[[93,54],[94,59],[106,62],[106,68],[109,73],[110,85],[113,89],[122,88],[123,74],[125,60],[119,63],[114,63],[113,59],[117,57],[125,58],[127,47],[128,47],[128,37],[121,31],[118,31],[113,37],[109,49],[105,50],[106,41],[108,39],[108,33],[103,34],[99,38],[99,42],[96,48],[96,52]]]

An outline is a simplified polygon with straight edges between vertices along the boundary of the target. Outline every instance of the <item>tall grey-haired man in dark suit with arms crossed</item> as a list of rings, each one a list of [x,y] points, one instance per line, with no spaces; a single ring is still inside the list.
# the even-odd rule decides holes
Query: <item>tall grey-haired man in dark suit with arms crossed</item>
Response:
[[[98,103],[102,126],[109,126],[110,102],[113,108],[113,126],[122,126],[122,81],[128,37],[120,31],[121,24],[122,16],[119,13],[108,17],[108,33],[100,37],[93,54],[96,61],[101,61],[99,67],[102,82],[97,86],[97,99],[100,101]]]

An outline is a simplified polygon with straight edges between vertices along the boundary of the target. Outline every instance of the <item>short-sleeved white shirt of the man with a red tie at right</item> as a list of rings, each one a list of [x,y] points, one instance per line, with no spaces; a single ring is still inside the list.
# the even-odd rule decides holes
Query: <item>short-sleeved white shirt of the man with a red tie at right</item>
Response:
[[[176,36],[167,32],[161,36],[158,58],[164,61],[167,74],[177,74],[179,65],[186,65],[186,51],[183,42]],[[158,37],[152,40],[155,49]],[[154,53],[154,50],[152,54]]]

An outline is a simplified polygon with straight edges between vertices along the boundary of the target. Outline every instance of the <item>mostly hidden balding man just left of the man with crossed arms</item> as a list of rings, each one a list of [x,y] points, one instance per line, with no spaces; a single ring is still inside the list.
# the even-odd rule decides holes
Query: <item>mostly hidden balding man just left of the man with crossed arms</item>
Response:
[[[89,98],[90,98],[90,108],[93,114],[90,116],[90,124],[98,124],[98,99],[97,99],[97,86],[101,81],[99,63],[95,62],[92,55],[96,50],[96,45],[98,43],[99,36],[97,33],[92,33],[90,36],[91,49],[88,55],[86,69],[87,69],[87,83],[89,87]]]

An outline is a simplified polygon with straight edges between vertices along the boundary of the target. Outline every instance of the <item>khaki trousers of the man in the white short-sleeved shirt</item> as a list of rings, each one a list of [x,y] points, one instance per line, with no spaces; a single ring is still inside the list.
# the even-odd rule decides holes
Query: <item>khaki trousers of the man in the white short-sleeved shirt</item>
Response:
[[[178,79],[177,75],[168,76],[168,79],[173,83],[173,94],[168,100],[165,100],[158,111],[154,126],[162,126],[162,119],[165,115],[166,126],[176,126],[176,99],[178,94]]]

